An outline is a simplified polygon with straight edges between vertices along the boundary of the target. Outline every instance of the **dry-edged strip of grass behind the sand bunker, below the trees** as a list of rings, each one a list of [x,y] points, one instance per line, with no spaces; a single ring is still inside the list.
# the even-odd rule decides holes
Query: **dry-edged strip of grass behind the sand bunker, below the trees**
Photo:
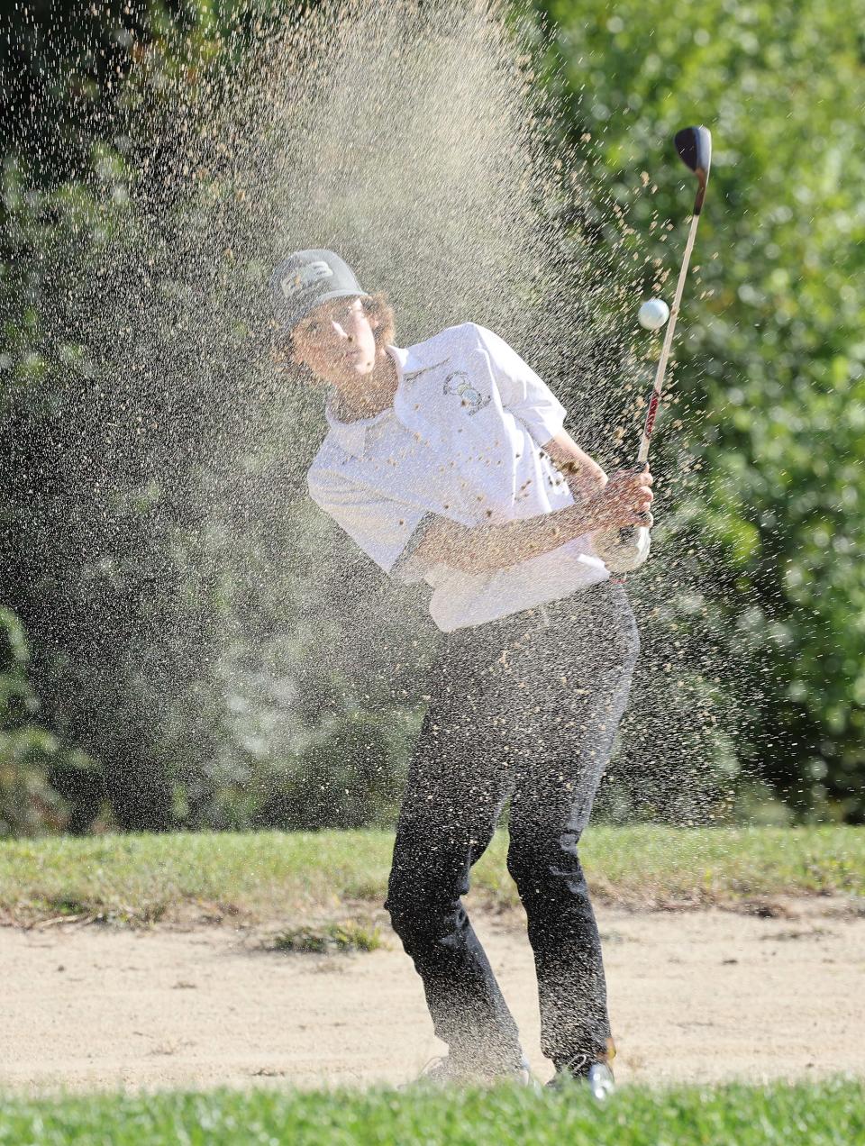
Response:
[[[387,832],[101,835],[0,842],[0,918],[148,924],[360,915],[385,896]],[[500,834],[474,896],[517,903]],[[592,827],[581,854],[599,900],[632,906],[736,904],[777,895],[865,896],[856,827]]]

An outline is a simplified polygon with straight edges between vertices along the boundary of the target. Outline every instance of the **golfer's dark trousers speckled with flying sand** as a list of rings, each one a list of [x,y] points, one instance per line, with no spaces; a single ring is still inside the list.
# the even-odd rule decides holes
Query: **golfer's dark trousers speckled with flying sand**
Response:
[[[519,1035],[461,897],[510,798],[508,870],[528,918],[541,1046],[556,1063],[610,1038],[577,843],[628,699],[637,627],[620,584],[451,634],[396,829],[385,906],[458,1069],[498,1074]]]

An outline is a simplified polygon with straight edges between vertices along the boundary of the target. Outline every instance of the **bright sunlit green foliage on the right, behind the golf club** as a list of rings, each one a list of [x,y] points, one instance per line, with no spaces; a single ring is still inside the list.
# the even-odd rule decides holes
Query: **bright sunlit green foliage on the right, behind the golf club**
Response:
[[[659,268],[675,276],[694,191],[671,135],[692,123],[714,133],[675,352],[677,397],[656,439],[660,518],[689,470],[666,528],[715,570],[732,662],[752,651],[749,677],[731,681],[747,729],[740,759],[801,813],[831,814],[833,801],[860,821],[862,6],[535,7],[559,25],[550,50],[563,68],[551,83],[591,160],[599,217],[612,193],[647,260],[646,292]]]

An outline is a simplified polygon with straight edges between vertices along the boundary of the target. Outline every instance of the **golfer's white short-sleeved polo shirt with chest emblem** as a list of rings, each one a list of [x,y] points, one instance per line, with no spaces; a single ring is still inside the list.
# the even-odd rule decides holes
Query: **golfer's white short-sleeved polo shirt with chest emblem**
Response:
[[[328,411],[330,431],[308,473],[315,503],[385,573],[425,580],[430,613],[445,633],[606,580],[588,534],[494,573],[412,557],[432,516],[503,525],[573,504],[541,449],[565,410],[506,343],[471,322],[388,352],[399,374],[392,407],[356,422]]]

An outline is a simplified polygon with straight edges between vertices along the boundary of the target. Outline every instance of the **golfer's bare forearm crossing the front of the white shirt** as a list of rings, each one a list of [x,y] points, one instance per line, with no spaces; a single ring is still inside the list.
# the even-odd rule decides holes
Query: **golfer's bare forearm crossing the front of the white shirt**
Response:
[[[549,554],[566,541],[600,527],[593,503],[567,505],[504,525],[469,528],[437,517],[424,533],[414,556],[425,564],[450,565],[464,573],[494,573],[530,557]]]

